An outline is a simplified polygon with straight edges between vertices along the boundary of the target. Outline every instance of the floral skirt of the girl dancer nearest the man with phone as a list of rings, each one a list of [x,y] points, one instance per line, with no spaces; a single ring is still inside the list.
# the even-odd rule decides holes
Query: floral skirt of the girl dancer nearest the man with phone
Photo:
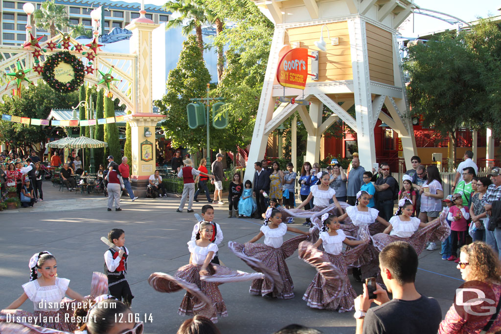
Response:
[[[357,293],[348,279],[348,268],[353,267],[352,263],[364,252],[366,247],[367,243],[363,243],[339,255],[323,252],[329,262],[342,273],[342,279],[345,280],[346,284],[332,287],[332,285],[326,284],[326,278],[321,271],[318,271],[303,295],[303,300],[306,301],[307,305],[313,308],[335,310],[340,313],[353,310],[354,298]]]

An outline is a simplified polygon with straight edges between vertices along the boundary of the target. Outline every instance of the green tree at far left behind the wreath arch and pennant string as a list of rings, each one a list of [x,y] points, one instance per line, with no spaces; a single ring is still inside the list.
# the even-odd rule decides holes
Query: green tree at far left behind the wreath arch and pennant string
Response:
[[[22,86],[21,97],[2,97],[0,114],[47,119],[52,109],[70,109],[78,103],[78,92],[61,94],[52,90],[43,80],[37,86]],[[47,138],[55,135],[60,128],[52,126],[24,125],[0,120],[0,138],[16,147],[28,147],[41,157],[45,151]],[[39,148],[40,145],[40,148]]]

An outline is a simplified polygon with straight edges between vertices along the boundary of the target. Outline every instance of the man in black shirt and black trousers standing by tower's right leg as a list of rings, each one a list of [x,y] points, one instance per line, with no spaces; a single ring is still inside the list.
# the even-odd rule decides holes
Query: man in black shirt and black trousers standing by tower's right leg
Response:
[[[381,164],[382,177],[378,177],[374,183],[376,188],[376,209],[379,210],[379,216],[390,220],[393,216],[393,206],[395,194],[398,196],[398,182],[390,175],[390,166],[387,163]]]

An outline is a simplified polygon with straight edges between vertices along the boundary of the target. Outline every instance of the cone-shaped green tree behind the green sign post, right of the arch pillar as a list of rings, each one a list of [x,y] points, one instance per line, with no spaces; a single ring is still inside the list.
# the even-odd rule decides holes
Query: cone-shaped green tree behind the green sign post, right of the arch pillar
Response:
[[[162,128],[167,138],[171,138],[172,147],[187,147],[198,151],[205,146],[205,127],[190,129],[186,115],[189,99],[206,94],[210,81],[209,71],[205,67],[202,54],[195,36],[188,36],[183,43],[177,67],[169,72],[167,94],[162,100],[155,101],[166,120]]]

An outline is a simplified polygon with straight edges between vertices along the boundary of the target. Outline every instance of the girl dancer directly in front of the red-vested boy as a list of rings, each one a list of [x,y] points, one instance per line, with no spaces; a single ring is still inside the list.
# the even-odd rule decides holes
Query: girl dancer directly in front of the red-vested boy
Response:
[[[188,241],[188,249],[190,252],[189,264],[177,270],[176,278],[196,284],[201,292],[210,298],[212,304],[204,304],[204,306],[200,308],[198,298],[186,292],[177,313],[180,315],[199,314],[204,311],[204,307],[210,306],[213,307],[214,310],[208,317],[215,323],[217,322],[217,316],[228,316],[226,305],[217,287],[219,283],[201,280],[200,276],[214,273],[214,267],[210,261],[214,258],[218,248],[215,243],[210,241],[213,234],[213,227],[210,222],[200,222],[199,233],[200,239]]]

